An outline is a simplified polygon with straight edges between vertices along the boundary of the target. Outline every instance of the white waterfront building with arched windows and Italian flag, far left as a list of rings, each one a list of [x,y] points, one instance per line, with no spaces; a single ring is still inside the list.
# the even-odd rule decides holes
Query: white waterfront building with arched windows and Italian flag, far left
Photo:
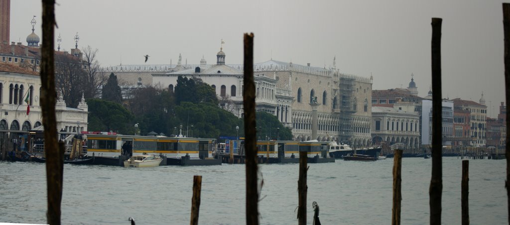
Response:
[[[38,72],[0,63],[0,132],[26,138],[30,130],[42,125],[40,91]],[[85,99],[82,98],[78,108],[68,108],[60,95],[55,111],[59,131],[87,131],[88,106]]]

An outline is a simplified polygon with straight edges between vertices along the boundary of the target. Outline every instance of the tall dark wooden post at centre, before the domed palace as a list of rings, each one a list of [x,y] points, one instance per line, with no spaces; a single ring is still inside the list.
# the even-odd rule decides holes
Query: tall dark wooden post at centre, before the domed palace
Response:
[[[259,224],[257,188],[257,137],[255,122],[255,83],[253,81],[253,33],[244,34],[244,134],[246,139],[246,224]]]

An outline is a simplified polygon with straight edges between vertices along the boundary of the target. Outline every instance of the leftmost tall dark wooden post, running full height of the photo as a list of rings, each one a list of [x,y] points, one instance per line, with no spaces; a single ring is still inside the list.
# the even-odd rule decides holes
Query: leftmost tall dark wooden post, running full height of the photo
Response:
[[[64,145],[57,142],[55,116],[55,0],[42,0],[41,47],[41,111],[46,152],[46,185],[48,191],[48,224],[60,224],[62,180],[64,170]]]

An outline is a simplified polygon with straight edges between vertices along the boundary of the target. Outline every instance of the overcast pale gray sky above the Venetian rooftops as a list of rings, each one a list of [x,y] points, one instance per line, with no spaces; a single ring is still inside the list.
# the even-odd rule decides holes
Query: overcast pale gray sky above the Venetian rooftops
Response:
[[[242,64],[243,33],[255,35],[255,62],[278,61],[374,77],[373,89],[406,88],[414,73],[420,96],[431,84],[432,17],[443,18],[443,97],[478,102],[490,117],[504,102],[503,16],[500,1],[132,1],[57,0],[62,48],[97,48],[103,66],[216,62],[220,40],[227,64]],[[26,43],[41,1],[11,1],[11,41]],[[57,46],[57,45],[55,45]],[[496,112],[493,112],[493,109]]]

